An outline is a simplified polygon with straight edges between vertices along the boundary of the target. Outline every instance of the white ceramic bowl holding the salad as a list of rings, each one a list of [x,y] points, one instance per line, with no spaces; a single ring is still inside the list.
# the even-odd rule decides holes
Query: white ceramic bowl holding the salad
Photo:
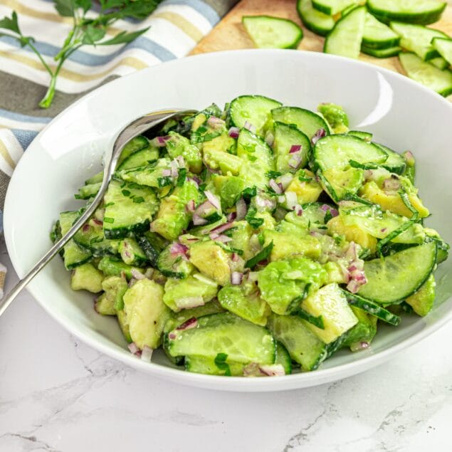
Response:
[[[54,219],[60,211],[80,206],[73,194],[100,170],[104,149],[130,120],[163,107],[222,106],[241,94],[267,95],[310,109],[320,102],[337,103],[348,112],[352,129],[369,130],[377,142],[396,150],[411,149],[418,162],[416,182],[433,213],[426,224],[452,243],[451,104],[399,74],[346,58],[303,51],[230,51],[119,78],[69,107],[36,137],[6,196],[4,231],[17,273],[24,275],[51,246],[48,233]],[[452,317],[452,280],[446,278],[451,270],[452,259],[438,268],[436,305],[426,318],[406,317],[399,327],[381,325],[371,349],[339,352],[315,372],[258,379],[190,374],[159,353],[152,364],[140,361],[128,352],[116,320],[98,315],[88,293],[70,290],[69,273],[59,257],[28,290],[81,340],[151,375],[211,389],[276,391],[357,374],[430,335]]]

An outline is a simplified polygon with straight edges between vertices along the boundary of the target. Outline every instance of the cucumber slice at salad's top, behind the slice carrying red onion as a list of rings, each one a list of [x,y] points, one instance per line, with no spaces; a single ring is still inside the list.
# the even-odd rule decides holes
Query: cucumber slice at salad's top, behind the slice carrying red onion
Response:
[[[301,130],[310,140],[319,130],[325,130],[329,135],[330,128],[325,120],[310,110],[300,107],[279,107],[271,110],[271,116],[275,122],[293,124]]]

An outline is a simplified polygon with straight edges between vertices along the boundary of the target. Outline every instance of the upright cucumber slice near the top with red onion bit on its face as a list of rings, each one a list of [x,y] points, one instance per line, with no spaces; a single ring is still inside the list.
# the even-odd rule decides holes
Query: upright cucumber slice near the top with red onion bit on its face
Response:
[[[304,168],[310,154],[310,139],[297,127],[283,122],[275,122],[274,134],[273,151],[276,157],[276,171],[286,173]],[[291,150],[296,150],[296,146],[300,146],[300,149],[290,153]]]

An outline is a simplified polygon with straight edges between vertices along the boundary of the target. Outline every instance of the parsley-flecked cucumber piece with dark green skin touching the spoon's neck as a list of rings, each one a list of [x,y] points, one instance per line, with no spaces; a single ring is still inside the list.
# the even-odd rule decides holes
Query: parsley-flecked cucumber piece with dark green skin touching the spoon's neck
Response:
[[[159,203],[154,190],[135,183],[112,181],[105,194],[104,233],[106,238],[124,238],[149,230]]]

